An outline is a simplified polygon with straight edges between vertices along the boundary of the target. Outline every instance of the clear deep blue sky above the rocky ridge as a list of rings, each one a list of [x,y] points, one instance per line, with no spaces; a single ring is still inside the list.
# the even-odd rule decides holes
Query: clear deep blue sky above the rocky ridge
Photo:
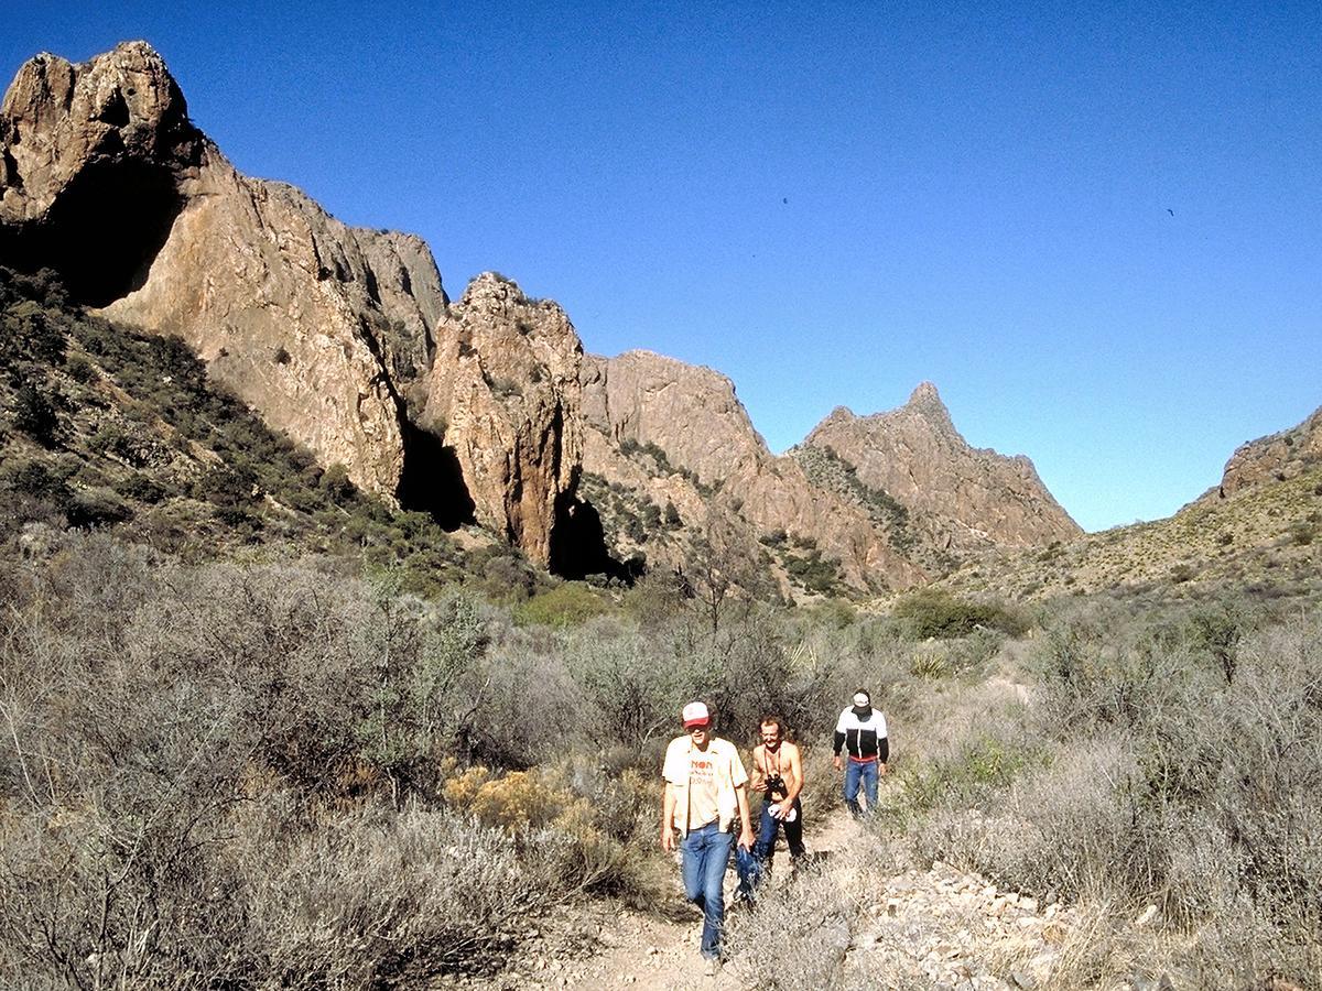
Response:
[[[8,0],[145,38],[250,174],[498,270],[775,451],[937,385],[1089,530],[1322,404],[1322,4]]]

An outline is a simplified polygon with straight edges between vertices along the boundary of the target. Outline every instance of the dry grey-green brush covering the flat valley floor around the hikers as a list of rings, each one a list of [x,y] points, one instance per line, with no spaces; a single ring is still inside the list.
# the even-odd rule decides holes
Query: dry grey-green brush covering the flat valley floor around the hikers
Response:
[[[656,768],[686,698],[746,744],[785,712],[820,822],[825,739],[859,683],[896,751],[873,869],[943,860],[1091,908],[1056,987],[1319,965],[1322,643],[1298,604],[735,603],[713,629],[653,584],[530,620],[333,558],[185,562],[108,534],[9,560],[0,597],[8,975],[412,987],[498,970],[529,920],[673,900]],[[768,912],[808,943],[825,921],[847,932],[833,885],[810,875],[736,917],[732,950],[761,953]],[[1149,904],[1137,945],[1124,922]],[[804,969],[781,987],[833,979],[830,954],[785,959]]]

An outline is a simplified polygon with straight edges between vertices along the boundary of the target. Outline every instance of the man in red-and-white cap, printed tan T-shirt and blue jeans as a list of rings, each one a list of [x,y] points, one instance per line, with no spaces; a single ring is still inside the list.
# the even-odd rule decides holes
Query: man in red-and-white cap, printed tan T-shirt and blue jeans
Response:
[[[752,847],[748,814],[748,774],[739,749],[711,732],[711,714],[702,702],[683,707],[685,735],[670,741],[661,777],[661,848],[674,850],[680,834],[683,893],[702,909],[702,955],[709,973],[720,961],[720,928],[726,917],[726,865],[734,848],[735,818],[739,846]]]

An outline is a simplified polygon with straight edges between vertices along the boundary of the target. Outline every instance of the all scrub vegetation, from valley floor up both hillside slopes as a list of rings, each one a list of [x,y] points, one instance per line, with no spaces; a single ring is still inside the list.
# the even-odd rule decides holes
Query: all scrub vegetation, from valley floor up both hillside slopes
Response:
[[[592,953],[557,942],[584,905],[676,905],[681,704],[746,747],[787,716],[820,823],[859,684],[895,756],[857,876],[941,862],[1071,906],[1043,987],[1322,973],[1315,470],[882,601],[833,597],[784,532],[743,571],[698,535],[682,575],[567,583],[358,493],[46,275],[0,272],[0,345],[5,986],[419,987],[534,934]],[[594,485],[640,544],[691,526]],[[764,984],[866,984],[865,908],[809,871],[730,950],[755,965],[775,922]]]

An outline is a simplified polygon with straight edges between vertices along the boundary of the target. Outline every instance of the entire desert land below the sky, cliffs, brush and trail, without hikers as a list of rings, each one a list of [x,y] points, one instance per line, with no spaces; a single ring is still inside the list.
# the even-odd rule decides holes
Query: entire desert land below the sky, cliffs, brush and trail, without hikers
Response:
[[[1319,416],[1100,534],[931,383],[776,456],[719,371],[242,176],[144,42],[37,55],[0,987],[1322,987]],[[719,965],[658,832],[693,700],[801,752]]]

